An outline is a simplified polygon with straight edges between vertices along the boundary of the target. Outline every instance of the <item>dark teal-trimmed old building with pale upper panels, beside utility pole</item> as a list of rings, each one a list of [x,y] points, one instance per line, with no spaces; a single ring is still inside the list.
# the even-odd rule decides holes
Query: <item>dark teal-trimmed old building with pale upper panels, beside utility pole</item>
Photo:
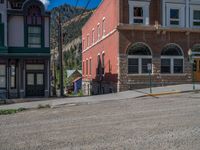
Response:
[[[39,0],[0,1],[0,94],[50,96],[50,13]]]

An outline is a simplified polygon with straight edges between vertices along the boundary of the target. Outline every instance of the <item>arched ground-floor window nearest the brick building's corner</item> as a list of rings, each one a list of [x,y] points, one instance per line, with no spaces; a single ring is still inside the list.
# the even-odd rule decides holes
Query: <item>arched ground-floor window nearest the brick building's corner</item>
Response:
[[[128,49],[128,74],[147,74],[148,64],[152,64],[150,48],[143,43],[133,44]]]

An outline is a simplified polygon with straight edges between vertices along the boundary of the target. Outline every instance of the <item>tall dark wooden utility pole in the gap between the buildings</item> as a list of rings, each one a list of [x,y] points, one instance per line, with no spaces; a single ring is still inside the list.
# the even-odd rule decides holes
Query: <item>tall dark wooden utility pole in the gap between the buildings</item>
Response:
[[[63,44],[63,35],[62,35],[62,22],[61,22],[61,14],[59,12],[58,16],[58,51],[60,58],[60,96],[64,96],[63,91],[63,52],[62,52],[62,44]]]

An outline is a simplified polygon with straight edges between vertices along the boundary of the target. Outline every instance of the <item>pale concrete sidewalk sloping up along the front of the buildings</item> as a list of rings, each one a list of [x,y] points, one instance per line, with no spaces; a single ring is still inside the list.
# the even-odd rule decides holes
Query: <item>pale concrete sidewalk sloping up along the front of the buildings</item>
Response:
[[[196,84],[195,87],[196,90],[200,90],[200,84]],[[182,84],[182,85],[152,88],[152,94],[150,94],[149,88],[146,88],[146,89],[120,92],[115,94],[89,96],[89,97],[55,98],[55,99],[50,98],[49,100],[41,99],[41,101],[38,101],[38,99],[35,99],[36,101],[34,101],[34,99],[30,99],[31,102],[1,105],[0,110],[19,109],[19,108],[33,109],[33,108],[38,108],[39,105],[42,106],[50,105],[52,108],[54,108],[54,107],[59,107],[60,105],[73,106],[80,104],[99,103],[103,101],[123,100],[123,99],[138,98],[143,96],[168,95],[168,94],[184,93],[192,91],[193,91],[192,84]]]

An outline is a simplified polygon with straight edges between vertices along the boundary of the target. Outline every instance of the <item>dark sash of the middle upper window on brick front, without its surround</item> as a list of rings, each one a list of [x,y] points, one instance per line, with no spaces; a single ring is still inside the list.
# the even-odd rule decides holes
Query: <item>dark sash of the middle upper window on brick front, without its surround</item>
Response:
[[[170,25],[178,26],[180,25],[180,10],[170,9]]]

